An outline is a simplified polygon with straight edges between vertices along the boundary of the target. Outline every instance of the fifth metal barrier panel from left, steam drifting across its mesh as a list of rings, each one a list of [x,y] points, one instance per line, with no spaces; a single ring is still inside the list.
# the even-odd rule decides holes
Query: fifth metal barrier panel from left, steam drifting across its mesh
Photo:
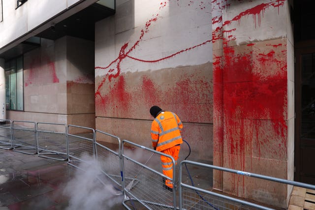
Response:
[[[104,141],[107,143],[104,143]],[[120,152],[121,140],[119,137],[100,130],[95,130],[95,154],[102,174],[122,187],[122,162]]]

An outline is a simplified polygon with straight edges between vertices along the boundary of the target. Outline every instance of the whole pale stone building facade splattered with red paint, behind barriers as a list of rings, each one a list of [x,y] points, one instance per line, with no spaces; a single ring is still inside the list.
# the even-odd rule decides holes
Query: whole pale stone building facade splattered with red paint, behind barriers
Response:
[[[192,160],[315,183],[307,3],[2,0],[4,116],[92,127],[151,147],[149,109],[158,105],[183,121]],[[217,171],[213,183],[282,208],[292,191]]]

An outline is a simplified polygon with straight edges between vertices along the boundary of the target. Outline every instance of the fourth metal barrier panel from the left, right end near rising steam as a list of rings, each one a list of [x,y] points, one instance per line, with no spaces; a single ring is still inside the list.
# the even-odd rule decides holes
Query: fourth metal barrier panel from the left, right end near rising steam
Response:
[[[75,130],[77,134],[71,134]],[[68,164],[82,169],[79,163],[95,160],[95,130],[77,125],[67,126]]]

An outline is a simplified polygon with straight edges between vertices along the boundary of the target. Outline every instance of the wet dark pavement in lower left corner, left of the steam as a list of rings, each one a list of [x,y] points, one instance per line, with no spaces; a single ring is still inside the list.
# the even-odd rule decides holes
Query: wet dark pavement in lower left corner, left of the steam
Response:
[[[82,173],[78,171],[81,170],[68,165],[66,161],[0,149],[0,210],[85,209],[75,208],[69,196],[73,194],[65,189],[71,180],[76,179],[76,173]],[[110,189],[106,192],[110,196],[103,195],[103,199],[91,201],[92,204],[98,202],[97,205],[101,205],[99,202],[104,202],[104,209],[125,209],[123,196],[111,194]],[[82,196],[89,199],[89,194]],[[110,199],[111,206],[108,206],[106,198]]]

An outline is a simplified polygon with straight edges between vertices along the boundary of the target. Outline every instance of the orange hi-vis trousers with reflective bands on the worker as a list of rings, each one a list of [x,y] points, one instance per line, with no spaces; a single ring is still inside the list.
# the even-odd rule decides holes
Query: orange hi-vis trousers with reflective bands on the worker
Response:
[[[168,154],[170,156],[172,156],[175,160],[175,164],[177,164],[177,159],[178,159],[178,155],[179,155],[179,150],[181,149],[180,145],[176,145],[172,148],[163,150],[161,152],[163,152],[164,154]],[[162,162],[162,169],[163,169],[163,174],[171,179],[173,179],[173,162],[172,159],[166,156],[161,155],[161,162]],[[171,180],[166,179],[165,180],[165,185],[173,188],[173,183]]]

